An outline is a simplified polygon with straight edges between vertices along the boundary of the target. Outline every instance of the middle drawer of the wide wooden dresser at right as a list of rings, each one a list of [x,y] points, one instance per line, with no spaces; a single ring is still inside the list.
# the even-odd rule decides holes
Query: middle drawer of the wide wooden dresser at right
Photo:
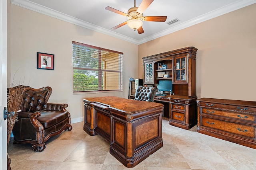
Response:
[[[240,120],[246,120],[246,121],[255,121],[255,115],[251,114],[245,114],[245,113],[239,113],[239,112],[227,112],[223,110],[218,110],[218,109],[211,109],[211,108],[202,108],[202,113],[206,113],[209,115],[219,115],[219,116],[225,116],[225,117],[230,117],[230,118],[235,118],[235,119],[240,119]]]

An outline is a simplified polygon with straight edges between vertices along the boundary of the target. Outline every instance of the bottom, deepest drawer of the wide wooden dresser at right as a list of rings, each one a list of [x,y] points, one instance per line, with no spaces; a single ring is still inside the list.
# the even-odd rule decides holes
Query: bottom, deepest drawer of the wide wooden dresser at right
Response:
[[[236,135],[242,135],[245,137],[255,138],[255,127],[249,125],[243,125],[233,123],[229,121],[223,121],[218,119],[212,119],[208,117],[202,117],[202,126],[218,129],[221,131],[233,133]]]

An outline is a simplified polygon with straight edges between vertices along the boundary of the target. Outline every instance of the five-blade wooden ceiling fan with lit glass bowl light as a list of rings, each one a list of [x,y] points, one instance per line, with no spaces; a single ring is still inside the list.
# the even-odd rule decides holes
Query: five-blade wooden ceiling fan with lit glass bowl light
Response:
[[[142,24],[143,24],[142,21],[157,21],[157,22],[166,21],[167,16],[143,16],[142,15],[142,13],[148,8],[148,6],[153,1],[154,0],[142,0],[140,6],[136,7],[136,0],[134,0],[134,7],[130,8],[127,14],[122,11],[111,8],[110,6],[107,6],[105,8],[106,10],[115,12],[122,16],[126,16],[129,19],[123,23],[120,23],[119,25],[116,25],[115,27],[112,27],[112,29],[117,29],[127,24],[130,28],[134,29],[134,31],[137,30],[138,33],[141,34],[141,33],[144,33],[144,30],[142,28]]]

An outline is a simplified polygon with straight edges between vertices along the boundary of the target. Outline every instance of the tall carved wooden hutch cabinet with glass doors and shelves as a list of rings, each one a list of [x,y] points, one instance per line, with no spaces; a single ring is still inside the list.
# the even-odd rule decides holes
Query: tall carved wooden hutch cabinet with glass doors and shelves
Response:
[[[160,80],[172,84],[172,92],[155,96],[154,102],[164,104],[169,124],[190,129],[197,123],[196,115],[196,51],[186,47],[143,57],[144,85],[158,86]]]

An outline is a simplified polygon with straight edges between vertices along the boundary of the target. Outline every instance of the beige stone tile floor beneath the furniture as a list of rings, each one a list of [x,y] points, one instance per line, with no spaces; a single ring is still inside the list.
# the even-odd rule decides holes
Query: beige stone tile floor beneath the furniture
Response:
[[[12,170],[256,170],[256,149],[180,129],[163,117],[164,146],[134,168],[126,168],[109,153],[100,136],[87,135],[83,122],[73,123],[46,142],[43,152],[29,144],[13,145],[8,153]]]

